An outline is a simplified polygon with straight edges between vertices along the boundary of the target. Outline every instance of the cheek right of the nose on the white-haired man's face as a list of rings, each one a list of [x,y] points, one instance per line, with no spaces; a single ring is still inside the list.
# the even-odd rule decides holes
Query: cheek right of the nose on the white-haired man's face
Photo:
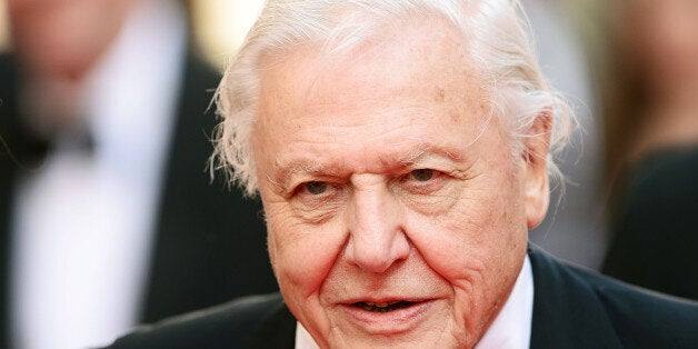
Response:
[[[410,216],[410,239],[429,266],[458,288],[487,289],[518,271],[520,256],[512,252],[525,251],[526,212],[516,181],[496,182],[497,190],[487,182],[469,185],[446,215]]]

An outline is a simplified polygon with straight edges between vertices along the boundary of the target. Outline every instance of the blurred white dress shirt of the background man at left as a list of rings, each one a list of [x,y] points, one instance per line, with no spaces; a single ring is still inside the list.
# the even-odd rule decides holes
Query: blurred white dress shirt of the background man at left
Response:
[[[171,0],[143,1],[80,94],[94,150],[59,139],[12,225],[18,348],[110,343],[138,321],[186,52]]]

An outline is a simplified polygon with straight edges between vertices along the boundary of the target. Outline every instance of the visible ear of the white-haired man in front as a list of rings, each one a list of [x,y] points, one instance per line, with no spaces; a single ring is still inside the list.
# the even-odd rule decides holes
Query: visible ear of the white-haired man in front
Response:
[[[524,140],[525,193],[528,229],[534,229],[546,217],[550,201],[548,181],[548,152],[550,150],[550,130],[552,114],[545,109],[528,129]]]

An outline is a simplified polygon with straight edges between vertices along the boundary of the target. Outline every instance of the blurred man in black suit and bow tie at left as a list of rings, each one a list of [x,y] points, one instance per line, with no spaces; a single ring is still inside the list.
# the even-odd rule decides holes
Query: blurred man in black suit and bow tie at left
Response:
[[[259,203],[205,171],[220,76],[193,52],[183,4],[7,7],[0,347],[104,345],[141,321],[275,290]]]

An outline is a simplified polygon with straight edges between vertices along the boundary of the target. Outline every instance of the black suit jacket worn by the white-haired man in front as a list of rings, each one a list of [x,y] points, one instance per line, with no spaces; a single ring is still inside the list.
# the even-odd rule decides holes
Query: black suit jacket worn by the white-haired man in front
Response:
[[[530,348],[698,348],[698,303],[555,260],[537,248]],[[120,338],[113,349],[293,348],[296,319],[279,295],[195,312]]]

